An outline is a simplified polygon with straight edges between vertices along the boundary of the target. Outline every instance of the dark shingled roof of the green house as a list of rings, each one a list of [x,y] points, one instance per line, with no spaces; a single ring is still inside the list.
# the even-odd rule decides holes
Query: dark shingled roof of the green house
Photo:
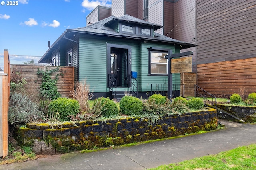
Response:
[[[180,45],[181,49],[186,49],[190,47],[195,47],[195,44],[190,44],[186,43],[184,41],[179,41],[176,39],[172,39],[170,37],[167,37],[165,35],[161,35],[159,33],[154,33],[154,37],[150,36],[143,36],[143,35],[137,35],[137,34],[126,34],[126,33],[118,33],[114,31],[114,29],[110,28],[109,24],[113,23],[114,21],[119,20],[119,21],[124,21],[124,22],[130,22],[130,23],[137,23],[137,24],[142,24],[144,26],[150,26],[154,27],[154,30],[160,29],[163,26],[157,25],[154,23],[150,23],[144,20],[140,20],[138,18],[135,18],[133,16],[130,16],[128,14],[122,16],[122,17],[115,17],[115,16],[110,16],[108,18],[105,18],[103,20],[100,20],[96,23],[92,23],[86,27],[82,28],[76,28],[76,29],[66,29],[64,33],[53,43],[50,49],[46,51],[46,53],[43,55],[43,57],[38,61],[38,63],[44,63],[47,61],[48,57],[51,57],[51,54],[53,50],[56,49],[58,41],[62,37],[66,35],[66,33],[80,33],[80,34],[90,34],[90,35],[102,35],[102,36],[108,36],[108,37],[119,37],[119,38],[129,38],[129,39],[140,39],[142,41],[154,41],[154,42],[164,42],[164,43],[173,43]],[[54,48],[55,47],[55,48]]]

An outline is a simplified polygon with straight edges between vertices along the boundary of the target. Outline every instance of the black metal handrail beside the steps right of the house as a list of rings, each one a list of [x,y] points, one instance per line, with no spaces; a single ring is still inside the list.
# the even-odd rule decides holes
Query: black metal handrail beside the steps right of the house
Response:
[[[217,109],[217,99],[212,94],[206,92],[204,89],[200,88],[195,84],[195,97],[203,98],[204,99],[204,105],[207,106],[207,104],[210,104],[212,107]]]

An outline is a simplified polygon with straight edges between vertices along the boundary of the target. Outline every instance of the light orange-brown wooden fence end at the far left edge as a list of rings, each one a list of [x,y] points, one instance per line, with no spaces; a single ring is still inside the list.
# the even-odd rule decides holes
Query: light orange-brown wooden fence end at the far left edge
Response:
[[[0,157],[8,155],[8,103],[10,96],[10,59],[4,50],[4,72],[0,73]]]

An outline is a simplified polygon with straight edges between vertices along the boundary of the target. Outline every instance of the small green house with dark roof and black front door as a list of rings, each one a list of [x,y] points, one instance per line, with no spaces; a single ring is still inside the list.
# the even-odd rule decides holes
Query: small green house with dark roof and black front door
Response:
[[[96,97],[165,93],[164,56],[196,45],[158,34],[158,29],[162,26],[129,15],[110,16],[87,27],[66,29],[39,63],[73,66],[75,78],[86,80]],[[172,83],[180,84],[180,74],[172,74]]]

